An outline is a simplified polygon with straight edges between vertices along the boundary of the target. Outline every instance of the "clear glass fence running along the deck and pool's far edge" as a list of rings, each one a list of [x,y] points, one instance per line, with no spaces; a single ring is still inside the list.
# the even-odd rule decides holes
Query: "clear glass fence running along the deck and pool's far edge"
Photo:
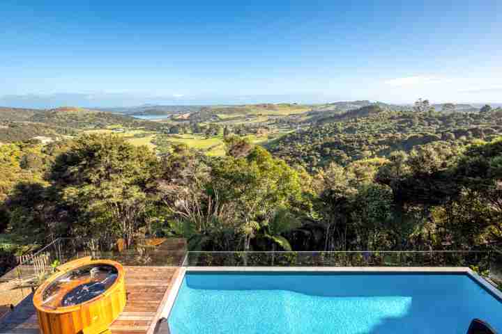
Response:
[[[186,252],[184,245],[185,241],[173,239],[170,246],[144,242],[141,246],[119,251],[114,244],[100,244],[92,239],[61,238],[0,277],[0,285],[8,283],[9,290],[16,290],[3,293],[16,305],[31,292],[32,287],[47,279],[59,264],[89,255],[93,260],[115,260],[124,266],[472,267],[485,277],[489,275],[493,281],[502,282],[502,253],[497,250]]]

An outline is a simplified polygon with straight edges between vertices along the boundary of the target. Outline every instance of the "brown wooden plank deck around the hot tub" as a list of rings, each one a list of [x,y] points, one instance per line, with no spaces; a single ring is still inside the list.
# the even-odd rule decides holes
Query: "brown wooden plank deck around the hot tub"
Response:
[[[178,267],[124,267],[126,308],[110,329],[113,334],[153,334]],[[38,320],[30,294],[0,320],[1,334],[38,334]]]

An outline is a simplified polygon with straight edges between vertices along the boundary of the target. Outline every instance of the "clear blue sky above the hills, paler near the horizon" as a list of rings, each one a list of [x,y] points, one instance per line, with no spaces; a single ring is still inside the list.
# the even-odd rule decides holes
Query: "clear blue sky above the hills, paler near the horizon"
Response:
[[[249,2],[3,0],[0,104],[502,102],[502,1]]]

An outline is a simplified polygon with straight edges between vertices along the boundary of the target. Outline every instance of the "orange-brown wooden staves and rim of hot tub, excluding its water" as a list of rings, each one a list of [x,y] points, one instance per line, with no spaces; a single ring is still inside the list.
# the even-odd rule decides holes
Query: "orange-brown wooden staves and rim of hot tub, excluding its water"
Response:
[[[52,307],[43,305],[43,292],[57,278],[78,267],[107,264],[117,269],[115,282],[102,294],[72,306]],[[38,324],[43,334],[93,333],[93,328],[107,328],[119,316],[126,306],[126,287],[124,270],[121,264],[110,260],[75,260],[65,264],[62,270],[55,273],[38,287],[33,295],[38,315]],[[96,329],[96,334],[98,329]]]

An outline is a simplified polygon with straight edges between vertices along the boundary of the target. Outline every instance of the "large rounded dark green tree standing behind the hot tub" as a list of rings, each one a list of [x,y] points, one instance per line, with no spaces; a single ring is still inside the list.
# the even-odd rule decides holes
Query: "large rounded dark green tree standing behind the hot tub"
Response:
[[[80,233],[123,237],[127,244],[144,223],[142,214],[158,171],[148,148],[117,136],[82,136],[59,156],[51,179],[77,212]]]

